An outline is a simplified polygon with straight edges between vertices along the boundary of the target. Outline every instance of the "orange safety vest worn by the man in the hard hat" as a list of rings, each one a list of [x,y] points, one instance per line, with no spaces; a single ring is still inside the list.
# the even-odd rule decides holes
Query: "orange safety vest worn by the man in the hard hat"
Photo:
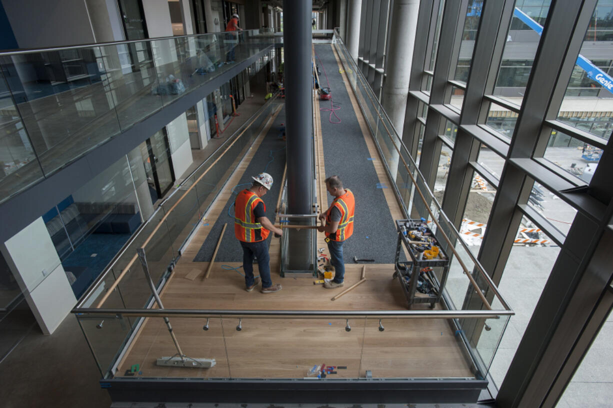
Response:
[[[264,201],[256,193],[249,190],[238,193],[234,202],[234,235],[238,241],[258,242],[268,238],[270,231],[262,227],[253,214],[258,203],[262,203],[266,211]]]

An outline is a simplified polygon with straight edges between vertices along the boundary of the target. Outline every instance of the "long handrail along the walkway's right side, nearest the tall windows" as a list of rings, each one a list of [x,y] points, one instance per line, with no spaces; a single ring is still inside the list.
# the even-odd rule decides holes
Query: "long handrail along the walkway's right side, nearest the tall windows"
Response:
[[[341,37],[338,35],[337,32],[335,32],[335,37],[337,37],[337,41],[340,42],[343,47],[345,47],[345,43],[343,42],[343,40],[341,39]],[[370,97],[370,94],[368,94],[368,91],[371,92],[370,86],[365,86],[364,85],[364,81],[362,80],[362,72],[360,72],[360,70],[357,68],[356,63],[353,61],[352,58],[344,58],[346,61],[349,61],[348,64],[354,69],[354,72],[356,72],[356,77],[360,78],[360,83],[362,83],[362,86],[364,89],[366,89],[367,91],[367,96],[368,98],[371,100],[371,102],[373,103],[373,106],[376,105],[381,105],[379,103],[378,100],[373,101],[372,98]],[[358,101],[359,102],[359,101]],[[376,103],[375,103],[376,102]],[[360,105],[361,106],[361,105]],[[383,120],[383,117],[381,117],[381,112],[383,112],[384,118],[387,119],[387,121],[389,122],[389,124],[391,125],[394,134],[397,137],[397,140],[395,141],[394,138],[392,138],[392,133],[389,131],[389,129],[387,129],[387,126],[385,124],[385,121]],[[400,159],[402,159],[403,163],[405,164],[407,173],[409,175],[409,177],[411,177],[411,181],[413,181],[413,184],[416,188],[416,191],[419,192],[419,195],[422,198],[422,201],[425,204],[426,209],[428,210],[428,213],[430,213],[430,215],[432,216],[432,220],[433,222],[435,222],[435,224],[438,226],[438,228],[441,230],[441,233],[443,233],[444,238],[446,238],[447,243],[449,244],[449,246],[451,247],[451,251],[454,252],[454,255],[456,256],[458,262],[460,262],[460,265],[462,266],[463,270],[466,273],[466,276],[468,276],[468,279],[471,281],[471,284],[473,284],[476,292],[478,293],[479,297],[481,298],[481,300],[484,302],[484,304],[486,306],[489,306],[491,308],[491,306],[489,305],[489,302],[485,299],[484,294],[481,292],[481,290],[479,289],[478,285],[476,284],[476,282],[474,281],[473,276],[471,276],[471,273],[468,271],[468,268],[466,268],[466,265],[464,265],[462,259],[460,259],[459,254],[457,254],[457,252],[455,251],[455,247],[451,244],[451,242],[449,241],[449,237],[447,237],[446,233],[444,232],[443,228],[441,227],[441,225],[438,224],[438,221],[436,221],[436,217],[434,216],[434,214],[432,214],[432,211],[430,210],[430,206],[428,205],[428,203],[425,200],[424,195],[421,192],[421,189],[419,188],[419,186],[417,186],[417,182],[416,180],[413,178],[413,174],[411,173],[411,170],[409,170],[408,165],[405,162],[404,157],[402,157],[402,154],[400,153],[400,148],[398,148],[396,146],[397,143],[400,143],[400,147],[405,149],[405,153],[406,155],[409,157],[411,163],[413,164],[413,167],[415,170],[417,170],[417,172],[419,173],[419,176],[421,176],[422,179],[425,180],[424,175],[422,175],[421,171],[419,170],[419,167],[417,167],[417,165],[415,164],[415,161],[413,160],[413,157],[411,156],[411,154],[408,153],[408,149],[405,146],[405,143],[402,141],[402,138],[398,137],[398,132],[396,129],[394,129],[394,126],[392,124],[392,121],[390,120],[389,116],[387,116],[387,112],[383,109],[378,110],[377,115],[379,116],[379,118],[381,118],[383,126],[386,128],[387,134],[390,138],[390,140],[392,140],[392,144],[394,145],[394,147],[397,149],[398,151],[398,156],[400,157]],[[426,191],[430,194],[430,196],[432,197],[432,200],[436,203],[436,207],[437,210],[439,211],[440,215],[442,215],[445,219],[445,221],[451,225],[453,231],[458,235],[457,238],[460,241],[460,244],[464,247],[466,253],[468,254],[468,257],[470,257],[470,259],[473,261],[474,265],[477,266],[477,269],[479,270],[479,273],[481,273],[482,277],[485,279],[485,281],[487,282],[488,286],[490,287],[490,289],[492,289],[492,292],[495,293],[495,295],[498,297],[498,300],[500,300],[500,303],[503,305],[504,308],[506,309],[511,309],[511,307],[509,306],[509,304],[506,302],[506,300],[504,300],[503,296],[501,295],[501,293],[498,291],[498,288],[496,287],[496,285],[494,284],[494,282],[492,281],[492,278],[490,278],[490,276],[485,272],[483,266],[481,265],[481,263],[479,263],[479,261],[474,257],[474,255],[472,254],[472,252],[470,251],[470,249],[468,249],[468,246],[466,245],[466,243],[462,240],[462,238],[459,236],[459,233],[457,233],[457,230],[455,230],[455,225],[449,220],[449,218],[447,217],[447,214],[444,213],[440,203],[438,202],[438,200],[436,200],[433,192],[430,190],[430,187],[428,187],[428,184],[424,182],[424,186]],[[402,200],[402,197],[400,197],[400,199]]]

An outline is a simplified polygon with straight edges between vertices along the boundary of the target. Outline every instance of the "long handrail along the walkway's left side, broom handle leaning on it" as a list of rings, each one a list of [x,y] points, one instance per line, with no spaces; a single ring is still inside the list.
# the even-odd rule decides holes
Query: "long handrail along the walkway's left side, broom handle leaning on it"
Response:
[[[259,109],[258,111],[256,111],[253,115],[251,115],[249,117],[249,119],[247,119],[245,121],[245,123],[243,123],[237,130],[236,132],[234,132],[234,134],[232,134],[230,137],[228,137],[223,143],[221,143],[221,145],[219,145],[219,147],[217,149],[215,149],[215,151],[213,151],[213,153],[210,154],[210,156],[207,158],[207,160],[205,160],[204,162],[202,162],[202,164],[200,164],[196,170],[194,170],[188,177],[186,177],[181,184],[178,185],[178,187],[175,189],[175,191],[173,191],[168,197],[166,197],[166,199],[159,204],[158,208],[156,209],[156,211],[154,211],[154,213],[151,215],[151,217],[145,221],[144,225],[147,225],[151,219],[153,219],[153,216],[155,216],[155,214],[157,214],[159,211],[161,211],[162,209],[162,205],[164,205],[164,203],[167,202],[167,200],[169,200],[169,198],[172,198],[173,195],[178,194],[179,191],[181,191],[181,186],[183,186],[183,184],[187,183],[188,181],[191,180],[192,176],[194,176],[197,172],[199,172],[199,170],[202,167],[205,167],[207,165],[209,165],[210,162],[210,158],[213,157],[213,155],[215,155],[218,151],[221,151],[221,149],[225,149],[227,151],[227,149],[230,148],[230,146],[226,146],[228,145],[230,142],[231,144],[234,144],[234,142],[236,142],[238,140],[238,138],[240,138],[240,136],[245,132],[246,129],[248,129],[249,126],[251,126],[251,124],[254,123],[254,121],[260,116],[262,115],[262,112],[265,111],[265,109],[268,108],[269,105],[271,105],[273,103],[274,100],[276,100],[276,96],[278,95],[278,93],[275,93],[275,95],[273,95],[272,98],[270,98],[264,105],[262,105],[262,108]],[[238,134],[238,135],[237,135]],[[223,157],[223,153],[215,160],[215,162],[213,164],[210,165],[210,167],[212,167],[221,157]],[[209,168],[210,168],[209,167]],[[199,176],[200,180],[202,178],[202,176],[204,176],[209,169],[205,170],[205,172],[202,173],[202,175]],[[197,184],[197,181],[195,183],[192,184],[192,186],[195,186]],[[166,218],[170,215],[170,213],[172,213],[172,210],[175,208],[175,206],[177,206],[178,203],[181,202],[181,200],[183,200],[183,197],[185,197],[189,191],[191,191],[190,187],[188,189],[188,191],[185,192],[185,194],[183,194],[183,196],[181,198],[179,198],[179,200],[177,201],[177,203],[175,203],[175,205],[172,206],[172,208],[170,208],[170,211],[168,211],[166,213],[166,215],[164,217],[162,217],[161,221],[159,221],[158,225],[156,226],[156,228],[153,230],[153,232],[151,232],[148,240],[145,241],[145,243],[142,244],[142,246],[144,247],[149,241],[151,236],[153,236],[154,233],[156,233],[160,227],[160,225],[166,221]],[[142,230],[142,229],[141,229]],[[121,259],[121,257],[125,254],[126,251],[128,251],[130,245],[137,239],[139,238],[138,235],[134,235],[132,236],[132,238],[130,238],[130,240],[128,241],[128,243],[124,246],[124,249],[120,252],[120,254],[116,255],[112,262],[107,266],[107,268],[105,268],[105,271],[103,271],[98,278],[96,279],[96,281],[94,282],[94,284],[92,284],[89,289],[82,295],[82,297],[80,298],[80,301],[77,303],[77,306],[75,306],[75,308],[80,308],[82,306],[83,303],[85,303],[86,300],[88,300],[88,297],[96,290],[97,286],[104,281],[104,279],[107,277],[107,275],[110,273],[110,271],[112,270],[113,266],[115,266],[115,264]],[[102,298],[101,302],[98,304],[98,308],[102,305],[102,303],[104,303],[104,301],[107,300],[107,298],[109,297],[110,293],[112,292],[113,289],[115,289],[115,287],[119,284],[119,281],[123,278],[124,274],[126,273],[126,271],[129,270],[129,267],[134,263],[135,259],[136,259],[137,255],[134,255],[134,257],[132,258],[132,260],[128,263],[128,265],[126,266],[126,268],[124,268],[123,272],[120,274],[120,276],[118,276],[118,278],[115,279],[115,282],[113,282],[113,285],[109,288],[109,290],[107,290],[107,293],[105,295],[105,297]]]

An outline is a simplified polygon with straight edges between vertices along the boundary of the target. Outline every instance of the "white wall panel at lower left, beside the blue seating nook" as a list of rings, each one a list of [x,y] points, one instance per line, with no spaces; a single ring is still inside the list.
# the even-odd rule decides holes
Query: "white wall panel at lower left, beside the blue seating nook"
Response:
[[[77,303],[42,217],[0,246],[41,330],[51,334]]]

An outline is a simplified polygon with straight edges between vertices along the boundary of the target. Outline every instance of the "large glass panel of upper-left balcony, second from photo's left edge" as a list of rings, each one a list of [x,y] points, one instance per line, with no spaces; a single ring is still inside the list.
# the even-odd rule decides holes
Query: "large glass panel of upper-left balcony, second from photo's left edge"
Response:
[[[0,61],[45,175],[120,132],[99,47],[23,53]]]

